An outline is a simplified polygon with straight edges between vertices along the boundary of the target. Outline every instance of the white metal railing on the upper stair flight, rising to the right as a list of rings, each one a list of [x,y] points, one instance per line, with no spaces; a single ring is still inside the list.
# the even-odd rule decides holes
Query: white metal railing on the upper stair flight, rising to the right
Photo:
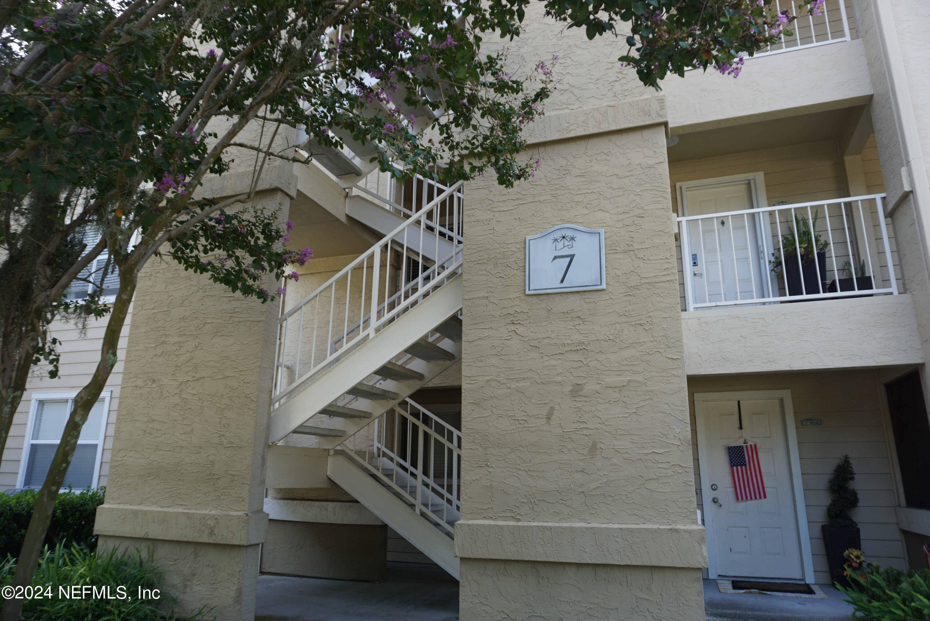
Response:
[[[462,265],[462,202],[446,199],[461,186],[460,181],[454,184],[286,309],[278,320],[272,407],[453,281]],[[436,325],[446,319],[438,317]],[[436,325],[423,325],[420,334]],[[360,372],[358,379],[373,371]]]

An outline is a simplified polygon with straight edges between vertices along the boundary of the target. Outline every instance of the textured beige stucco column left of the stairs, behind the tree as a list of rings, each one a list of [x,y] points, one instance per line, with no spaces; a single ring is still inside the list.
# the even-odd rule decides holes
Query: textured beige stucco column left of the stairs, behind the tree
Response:
[[[286,218],[285,192],[256,201]],[[277,314],[170,259],[140,277],[95,533],[151,550],[180,615],[255,618]]]

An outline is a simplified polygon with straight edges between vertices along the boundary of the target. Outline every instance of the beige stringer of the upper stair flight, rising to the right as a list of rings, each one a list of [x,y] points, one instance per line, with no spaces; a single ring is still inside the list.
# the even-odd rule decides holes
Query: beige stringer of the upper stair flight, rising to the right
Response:
[[[308,421],[311,416],[317,414],[328,403],[334,402],[340,396],[345,394],[365,377],[372,375],[384,363],[391,361],[394,356],[410,347],[415,341],[429,333],[434,327],[445,322],[446,319],[454,315],[462,308],[462,275],[459,273],[449,282],[435,289],[429,297],[421,300],[412,309],[407,310],[392,324],[385,326],[375,337],[366,341],[358,348],[346,355],[345,358],[333,364],[318,376],[304,386],[301,390],[287,397],[286,402],[272,410],[271,421],[269,425],[269,443],[276,443],[284,438],[288,433],[297,429],[300,425]],[[446,345],[453,341],[445,341]],[[456,344],[458,348],[458,344]],[[458,359],[458,351],[456,358]],[[423,373],[419,368],[418,362],[424,365],[432,366],[427,369],[432,373]],[[394,382],[385,380],[379,382],[379,388],[389,388],[392,385],[406,385],[406,388],[413,390],[394,390],[399,392],[403,399],[405,396],[413,393],[419,388],[445,370],[454,361],[449,363],[424,363],[415,360],[409,366],[412,369],[423,373],[427,379],[423,382]],[[417,385],[417,386],[415,386]],[[415,386],[415,387],[414,387]],[[382,412],[392,407],[394,403],[399,403],[401,399],[393,402],[379,401],[367,402],[366,406],[355,405],[360,410],[367,409],[372,416],[379,416]],[[366,402],[367,400],[359,400]],[[357,402],[357,403],[359,403]],[[374,409],[370,409],[374,408]],[[358,419],[353,419],[358,420]],[[354,423],[347,419],[340,419],[339,422],[345,427],[335,427],[327,425],[333,429],[345,429],[346,435],[351,435],[355,430],[362,429],[371,422],[370,419],[362,419],[362,423]],[[332,448],[331,446],[328,448]]]

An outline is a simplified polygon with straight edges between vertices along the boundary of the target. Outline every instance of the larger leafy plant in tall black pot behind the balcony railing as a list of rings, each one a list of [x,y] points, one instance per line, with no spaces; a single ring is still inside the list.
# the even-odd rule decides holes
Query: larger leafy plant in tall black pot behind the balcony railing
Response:
[[[827,292],[827,248],[830,242],[817,232],[818,217],[817,211],[812,221],[795,214],[794,228],[781,236],[779,252],[773,252],[772,260],[768,262],[772,271],[784,273],[789,296]]]

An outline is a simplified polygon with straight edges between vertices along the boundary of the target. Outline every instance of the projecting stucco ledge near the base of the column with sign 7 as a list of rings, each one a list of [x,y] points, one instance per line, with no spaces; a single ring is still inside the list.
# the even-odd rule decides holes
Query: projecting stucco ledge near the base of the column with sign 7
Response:
[[[456,556],[502,561],[707,567],[699,524],[456,522]]]

